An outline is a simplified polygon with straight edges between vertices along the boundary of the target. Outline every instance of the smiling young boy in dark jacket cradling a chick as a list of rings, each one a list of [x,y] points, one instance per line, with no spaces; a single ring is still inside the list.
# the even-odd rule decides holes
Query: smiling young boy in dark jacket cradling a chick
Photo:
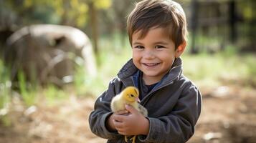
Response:
[[[184,10],[171,0],[144,0],[128,16],[127,29],[133,58],[95,102],[90,129],[115,143],[125,142],[123,135],[138,135],[136,142],[186,142],[194,134],[202,98],[182,74]],[[138,87],[148,117],[128,105],[125,111],[111,112],[111,99],[128,86]]]

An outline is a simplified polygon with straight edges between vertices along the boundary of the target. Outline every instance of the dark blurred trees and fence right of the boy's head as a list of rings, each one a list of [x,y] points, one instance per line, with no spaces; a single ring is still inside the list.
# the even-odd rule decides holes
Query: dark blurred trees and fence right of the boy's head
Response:
[[[214,53],[229,44],[256,51],[255,0],[191,0],[189,6],[191,54]]]

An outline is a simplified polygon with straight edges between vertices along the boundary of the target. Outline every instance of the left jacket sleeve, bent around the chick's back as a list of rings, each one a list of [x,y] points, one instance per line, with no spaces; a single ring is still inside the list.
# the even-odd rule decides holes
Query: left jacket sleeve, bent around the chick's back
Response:
[[[114,79],[110,82],[108,90],[98,97],[95,102],[93,112],[90,113],[89,124],[91,131],[99,137],[105,139],[115,139],[120,136],[118,132],[110,132],[106,128],[105,122],[108,117],[113,114],[110,109],[111,99],[115,96],[115,83]]]

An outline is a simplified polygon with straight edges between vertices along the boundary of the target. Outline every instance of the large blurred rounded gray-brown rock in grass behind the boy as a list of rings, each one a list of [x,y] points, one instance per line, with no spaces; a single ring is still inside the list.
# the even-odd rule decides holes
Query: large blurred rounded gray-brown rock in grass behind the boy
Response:
[[[28,82],[62,86],[72,82],[75,66],[85,66],[85,76],[97,70],[90,39],[71,26],[39,24],[25,26],[9,36],[4,61],[11,67],[11,79],[20,69]]]

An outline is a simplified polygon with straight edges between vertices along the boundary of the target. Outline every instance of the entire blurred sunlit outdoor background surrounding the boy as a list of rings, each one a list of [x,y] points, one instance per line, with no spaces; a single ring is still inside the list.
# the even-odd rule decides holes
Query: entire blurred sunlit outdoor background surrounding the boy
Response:
[[[256,1],[179,0],[184,74],[203,94],[189,142],[256,142]],[[134,0],[0,0],[0,143],[105,142],[87,122],[131,58]]]

